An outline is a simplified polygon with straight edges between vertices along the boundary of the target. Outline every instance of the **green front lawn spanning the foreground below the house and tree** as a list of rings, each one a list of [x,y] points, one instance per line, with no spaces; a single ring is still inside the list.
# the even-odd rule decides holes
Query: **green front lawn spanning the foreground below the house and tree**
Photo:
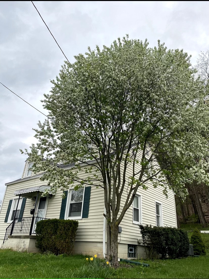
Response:
[[[209,278],[209,255],[145,261],[150,267],[92,268],[83,255],[20,253],[0,250],[0,278]],[[125,267],[123,267],[125,266]]]

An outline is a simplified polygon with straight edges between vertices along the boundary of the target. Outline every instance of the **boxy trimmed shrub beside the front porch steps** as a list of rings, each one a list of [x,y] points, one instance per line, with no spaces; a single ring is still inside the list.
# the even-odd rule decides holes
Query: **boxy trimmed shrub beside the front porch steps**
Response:
[[[41,253],[72,254],[78,221],[48,219],[36,224],[36,247]]]

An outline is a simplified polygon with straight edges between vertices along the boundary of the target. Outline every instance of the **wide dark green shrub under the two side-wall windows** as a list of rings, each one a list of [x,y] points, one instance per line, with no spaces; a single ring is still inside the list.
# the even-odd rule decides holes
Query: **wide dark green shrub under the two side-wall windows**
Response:
[[[189,239],[185,231],[172,227],[152,227],[151,225],[139,225],[139,229],[143,244],[147,245],[145,246],[147,258],[150,259],[154,252],[161,254],[161,258],[186,256]]]

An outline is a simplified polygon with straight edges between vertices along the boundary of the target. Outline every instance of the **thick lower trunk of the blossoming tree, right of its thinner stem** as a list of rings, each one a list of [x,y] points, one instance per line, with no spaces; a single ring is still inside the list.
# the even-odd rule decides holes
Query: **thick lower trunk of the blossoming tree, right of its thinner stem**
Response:
[[[118,225],[111,225],[110,227],[110,247],[112,266],[118,266]]]

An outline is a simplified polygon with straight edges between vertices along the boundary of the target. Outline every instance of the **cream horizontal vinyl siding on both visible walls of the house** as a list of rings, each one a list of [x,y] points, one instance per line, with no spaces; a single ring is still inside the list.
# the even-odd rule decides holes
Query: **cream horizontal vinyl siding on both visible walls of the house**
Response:
[[[26,166],[25,166],[26,167]],[[89,174],[84,171],[80,173],[80,177],[85,179]],[[136,166],[139,168],[139,166]],[[25,169],[24,169],[25,171]],[[92,173],[93,175],[93,173]],[[132,176],[132,165],[130,165],[126,172],[126,185],[128,187],[129,177]],[[24,173],[23,173],[24,177]],[[0,213],[0,239],[3,241],[6,227],[9,223],[4,223],[6,211],[8,208],[9,200],[15,198],[14,191],[18,189],[29,188],[33,186],[46,185],[47,182],[39,180],[39,177],[34,177],[29,180],[18,181],[18,183],[8,185],[5,198]],[[156,225],[156,212],[155,201],[162,203],[163,214],[163,226],[176,227],[176,214],[175,214],[175,200],[173,191],[168,189],[168,199],[163,195],[162,187],[154,188],[150,183],[147,184],[148,189],[143,190],[141,187],[138,189],[137,194],[141,195],[141,207],[142,207],[142,223]],[[34,193],[35,195],[35,193]],[[56,195],[48,199],[48,206],[46,210],[46,218],[59,218],[62,191],[58,190]],[[123,192],[121,198],[121,210],[126,199],[126,189]],[[26,199],[26,205],[23,213],[23,217],[31,217],[30,210],[34,208],[34,201]],[[76,235],[76,241],[89,241],[89,242],[102,242],[103,240],[103,213],[104,213],[104,193],[102,188],[96,189],[96,186],[91,186],[90,203],[89,203],[89,215],[88,218],[83,218],[79,221],[78,232]],[[124,244],[137,244],[138,238],[140,238],[140,231],[137,224],[133,224],[133,207],[132,205],[127,210],[120,226],[122,227],[122,233],[119,235],[120,243]]]

